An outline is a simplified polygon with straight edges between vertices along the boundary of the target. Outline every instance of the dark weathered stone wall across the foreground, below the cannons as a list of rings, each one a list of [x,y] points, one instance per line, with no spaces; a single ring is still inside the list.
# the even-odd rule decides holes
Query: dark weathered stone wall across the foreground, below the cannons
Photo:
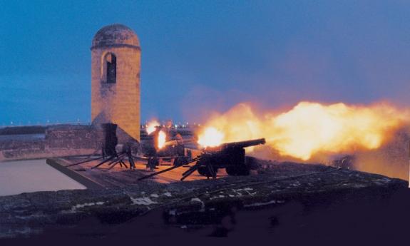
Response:
[[[230,238],[249,240],[252,235],[254,240],[275,230],[283,232],[275,240],[292,235],[283,238],[289,242],[294,233],[303,233],[303,239],[317,242],[323,234],[340,236],[349,230],[344,238],[369,226],[371,235],[384,235],[385,225],[396,232],[409,221],[407,186],[404,180],[347,169],[261,161],[258,175],[169,184],[143,180],[125,188],[0,197],[0,238],[123,235],[155,244],[170,242],[173,235],[205,237],[221,230]],[[235,227],[225,228],[226,217],[236,221]]]

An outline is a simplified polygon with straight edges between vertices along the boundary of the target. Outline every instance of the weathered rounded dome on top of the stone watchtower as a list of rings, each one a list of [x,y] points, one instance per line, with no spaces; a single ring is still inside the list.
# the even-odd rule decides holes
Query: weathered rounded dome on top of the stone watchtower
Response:
[[[91,49],[101,47],[140,47],[138,36],[123,24],[112,24],[98,30],[93,38]]]

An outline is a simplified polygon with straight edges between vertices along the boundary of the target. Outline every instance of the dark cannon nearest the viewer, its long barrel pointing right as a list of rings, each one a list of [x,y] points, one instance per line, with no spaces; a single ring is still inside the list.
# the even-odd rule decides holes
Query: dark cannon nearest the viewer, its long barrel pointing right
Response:
[[[206,176],[207,178],[216,178],[217,170],[220,168],[225,168],[228,175],[249,175],[250,165],[245,161],[245,148],[265,143],[265,138],[260,138],[240,142],[222,143],[217,147],[205,148],[200,155],[187,163],[195,164],[189,166],[188,170],[183,173],[180,180],[184,180],[195,171],[198,171],[200,175]],[[138,180],[150,178],[181,166],[183,165],[174,165],[172,168],[167,168],[157,173],[143,176]]]

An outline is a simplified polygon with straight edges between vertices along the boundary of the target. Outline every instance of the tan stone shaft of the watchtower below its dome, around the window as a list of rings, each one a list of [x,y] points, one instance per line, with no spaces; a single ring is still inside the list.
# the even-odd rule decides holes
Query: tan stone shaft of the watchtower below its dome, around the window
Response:
[[[116,83],[106,83],[103,63],[107,53],[116,56]],[[92,48],[91,121],[96,126],[101,123],[115,123],[130,137],[140,141],[139,48]]]

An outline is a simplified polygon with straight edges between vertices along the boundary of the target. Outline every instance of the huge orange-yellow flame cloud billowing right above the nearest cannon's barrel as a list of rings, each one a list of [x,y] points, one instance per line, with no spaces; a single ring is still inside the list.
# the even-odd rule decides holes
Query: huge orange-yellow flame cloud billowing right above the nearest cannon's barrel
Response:
[[[205,146],[213,140],[212,145],[219,145],[266,138],[267,145],[280,155],[309,160],[318,153],[379,148],[409,115],[384,103],[348,106],[301,102],[284,113],[256,116],[250,106],[241,103],[207,122],[205,129],[213,127],[219,132],[204,130],[198,143]]]

